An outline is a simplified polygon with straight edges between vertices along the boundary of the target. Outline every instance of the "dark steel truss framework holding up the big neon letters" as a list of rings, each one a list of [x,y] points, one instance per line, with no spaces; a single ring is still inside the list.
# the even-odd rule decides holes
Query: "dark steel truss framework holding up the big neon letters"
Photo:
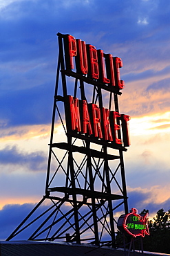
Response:
[[[123,151],[127,149],[71,131],[66,98],[73,95],[98,104],[100,109],[119,112],[121,93],[114,86],[66,70],[63,37],[58,33],[59,60],[45,195],[7,240],[17,239],[28,230],[28,240],[88,242],[98,246],[109,243],[116,247],[114,212],[128,213],[123,161]]]

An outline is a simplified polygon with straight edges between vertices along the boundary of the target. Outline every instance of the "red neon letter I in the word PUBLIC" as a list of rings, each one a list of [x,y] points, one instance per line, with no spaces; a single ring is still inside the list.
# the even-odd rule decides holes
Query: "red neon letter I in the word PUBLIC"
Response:
[[[106,54],[105,60],[106,60],[106,73],[107,73],[107,77],[109,77],[110,85],[115,86],[113,56],[111,54]]]

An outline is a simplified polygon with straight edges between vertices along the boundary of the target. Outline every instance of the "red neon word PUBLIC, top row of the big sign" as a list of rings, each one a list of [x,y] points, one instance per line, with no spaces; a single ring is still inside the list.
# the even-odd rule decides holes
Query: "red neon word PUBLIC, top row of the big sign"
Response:
[[[63,39],[67,70],[74,69],[75,57],[76,73],[118,89],[124,88],[125,82],[120,80],[120,68],[123,66],[120,57],[105,54],[103,50],[97,50],[92,44],[85,44],[72,35],[64,35]]]

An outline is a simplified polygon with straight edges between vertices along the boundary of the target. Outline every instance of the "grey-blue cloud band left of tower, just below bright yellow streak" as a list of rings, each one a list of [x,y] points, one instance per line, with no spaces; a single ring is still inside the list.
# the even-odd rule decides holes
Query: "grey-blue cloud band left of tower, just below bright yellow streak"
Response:
[[[44,152],[25,154],[17,147],[6,147],[0,150],[0,165],[20,165],[29,170],[42,171],[46,168],[47,158]]]

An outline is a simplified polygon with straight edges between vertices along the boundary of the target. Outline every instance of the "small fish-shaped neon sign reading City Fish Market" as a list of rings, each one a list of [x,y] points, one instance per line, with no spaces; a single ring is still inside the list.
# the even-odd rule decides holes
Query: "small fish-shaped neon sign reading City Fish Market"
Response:
[[[131,209],[129,214],[123,214],[118,219],[118,230],[127,233],[132,237],[145,237],[149,235],[148,213],[144,216],[138,214],[138,210]]]

